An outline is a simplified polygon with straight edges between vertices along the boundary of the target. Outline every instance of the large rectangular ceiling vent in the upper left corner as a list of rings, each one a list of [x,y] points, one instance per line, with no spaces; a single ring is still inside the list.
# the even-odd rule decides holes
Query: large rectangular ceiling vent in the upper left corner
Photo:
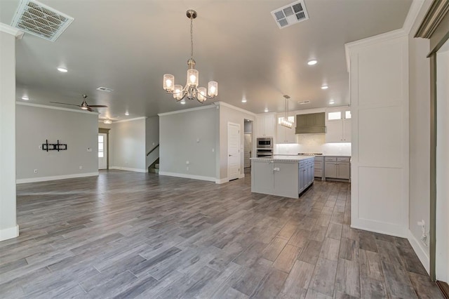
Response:
[[[22,0],[15,12],[12,27],[48,41],[55,41],[74,18],[34,0]]]

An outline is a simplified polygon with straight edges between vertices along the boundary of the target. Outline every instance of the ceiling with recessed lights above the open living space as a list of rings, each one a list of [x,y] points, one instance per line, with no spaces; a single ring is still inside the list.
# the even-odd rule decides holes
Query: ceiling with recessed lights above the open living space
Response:
[[[133,119],[218,100],[256,114],[265,108],[284,112],[285,94],[290,110],[349,105],[344,44],[401,28],[412,0],[305,0],[309,20],[283,29],[271,12],[294,1],[40,2],[74,22],[55,42],[31,34],[16,42],[16,100],[27,95],[35,104],[80,105],[86,93],[90,105],[108,106],[98,109],[100,118]],[[19,3],[1,0],[0,22],[11,25]],[[189,8],[198,13],[199,83],[217,81],[218,96],[181,105],[163,91],[162,78],[170,73],[175,82],[186,80]],[[318,63],[307,65],[312,58]],[[114,91],[96,90],[100,86]],[[310,103],[298,104],[306,100]]]

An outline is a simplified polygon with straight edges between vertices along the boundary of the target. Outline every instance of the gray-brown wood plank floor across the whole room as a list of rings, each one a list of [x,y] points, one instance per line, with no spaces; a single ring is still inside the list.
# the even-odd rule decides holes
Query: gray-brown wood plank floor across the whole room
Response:
[[[442,298],[406,239],[349,227],[345,182],[286,199],[104,171],[17,194],[1,298]]]

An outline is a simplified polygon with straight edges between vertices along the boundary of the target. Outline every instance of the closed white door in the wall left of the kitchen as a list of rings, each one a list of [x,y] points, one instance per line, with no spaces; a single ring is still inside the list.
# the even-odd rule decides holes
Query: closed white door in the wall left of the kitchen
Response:
[[[240,174],[240,125],[227,124],[227,178],[235,180]]]

